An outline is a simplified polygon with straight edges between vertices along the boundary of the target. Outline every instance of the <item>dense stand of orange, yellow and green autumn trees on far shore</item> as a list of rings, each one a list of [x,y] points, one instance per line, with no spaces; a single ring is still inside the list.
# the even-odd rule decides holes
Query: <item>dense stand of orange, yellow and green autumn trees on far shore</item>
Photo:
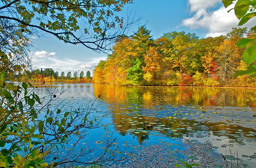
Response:
[[[107,60],[94,69],[92,80],[115,85],[255,86],[248,74],[245,47],[236,43],[253,38],[254,31],[232,28],[227,35],[199,39],[195,33],[169,32],[156,40],[141,26],[132,37],[118,40]]]

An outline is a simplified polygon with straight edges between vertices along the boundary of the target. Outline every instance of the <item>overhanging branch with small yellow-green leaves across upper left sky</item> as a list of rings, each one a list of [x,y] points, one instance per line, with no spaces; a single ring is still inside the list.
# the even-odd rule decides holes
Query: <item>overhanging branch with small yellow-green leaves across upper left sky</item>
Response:
[[[65,43],[95,51],[108,47],[137,22],[117,16],[132,0],[4,0],[0,21],[11,22],[24,33],[50,33]],[[2,26],[1,26],[2,27]],[[3,28],[3,27],[2,27]]]

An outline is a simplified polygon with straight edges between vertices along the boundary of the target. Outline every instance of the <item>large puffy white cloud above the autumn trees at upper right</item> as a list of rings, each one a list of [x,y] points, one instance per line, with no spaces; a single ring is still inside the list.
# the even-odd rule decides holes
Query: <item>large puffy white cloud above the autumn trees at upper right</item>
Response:
[[[237,27],[239,20],[236,18],[234,10],[227,12],[233,6],[229,6],[227,9],[220,3],[221,0],[188,0],[188,8],[193,13],[191,18],[182,20],[182,26],[187,26],[191,29],[205,29],[207,33],[205,37],[216,37],[220,35],[226,35],[231,31],[232,27]],[[213,7],[218,7],[215,9]],[[251,28],[256,19],[253,18],[247,24]]]

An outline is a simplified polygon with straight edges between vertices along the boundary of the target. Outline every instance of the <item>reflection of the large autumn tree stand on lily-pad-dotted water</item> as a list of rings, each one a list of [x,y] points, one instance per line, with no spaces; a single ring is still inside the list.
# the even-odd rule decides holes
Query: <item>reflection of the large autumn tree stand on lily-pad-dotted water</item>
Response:
[[[132,136],[140,144],[151,135],[209,141],[213,150],[225,154],[231,149],[255,163],[255,89],[104,84],[93,89],[108,103],[121,136]]]

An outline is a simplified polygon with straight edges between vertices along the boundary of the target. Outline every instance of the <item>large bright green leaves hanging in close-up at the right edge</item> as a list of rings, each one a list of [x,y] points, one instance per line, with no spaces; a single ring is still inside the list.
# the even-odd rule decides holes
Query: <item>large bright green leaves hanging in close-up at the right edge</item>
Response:
[[[233,4],[233,1],[234,0],[222,0],[225,8]],[[251,18],[256,16],[255,8],[256,8],[256,0],[238,0],[235,4],[235,7],[230,9],[229,11],[234,9],[236,17],[240,20],[238,26],[242,26]],[[256,26],[252,27],[251,30],[255,31]],[[256,40],[256,37],[250,38],[250,39],[243,38],[236,43],[238,47],[246,47],[243,53],[243,61],[248,65],[251,65],[253,62],[255,62],[255,59],[256,59],[255,40]],[[241,70],[236,72],[234,76],[240,76],[245,74],[251,75],[252,77],[256,77],[256,64],[255,63],[252,64],[251,66],[248,67],[247,70]]]

